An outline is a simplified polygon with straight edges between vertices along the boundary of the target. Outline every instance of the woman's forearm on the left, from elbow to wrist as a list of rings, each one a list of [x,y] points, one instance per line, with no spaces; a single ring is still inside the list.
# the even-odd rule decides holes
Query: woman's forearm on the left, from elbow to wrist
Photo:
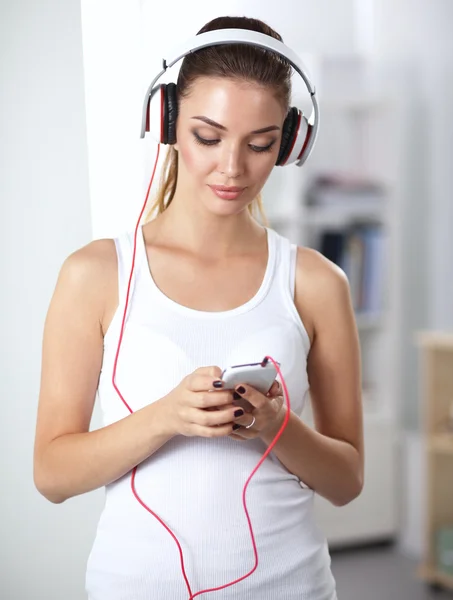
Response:
[[[107,427],[56,438],[36,460],[37,488],[60,503],[122,477],[172,437],[161,412],[158,400]]]

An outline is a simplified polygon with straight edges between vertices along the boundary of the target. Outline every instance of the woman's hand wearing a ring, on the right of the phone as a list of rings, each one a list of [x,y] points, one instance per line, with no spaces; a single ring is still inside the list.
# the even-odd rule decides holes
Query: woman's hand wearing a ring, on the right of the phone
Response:
[[[245,391],[243,391],[245,389]],[[245,400],[248,400],[254,409],[252,412],[245,412],[241,417],[237,417],[234,422],[240,425],[228,437],[238,441],[251,440],[256,437],[275,436],[283,424],[286,414],[286,406],[281,384],[274,381],[267,394],[262,394],[250,385],[238,385],[236,392]],[[255,422],[246,429],[253,418]]]

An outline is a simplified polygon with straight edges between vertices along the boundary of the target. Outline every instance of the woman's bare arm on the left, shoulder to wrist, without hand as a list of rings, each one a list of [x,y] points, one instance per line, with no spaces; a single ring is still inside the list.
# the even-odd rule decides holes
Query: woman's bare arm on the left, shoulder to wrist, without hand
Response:
[[[64,262],[49,306],[34,479],[52,502],[114,481],[171,437],[163,431],[159,403],[88,431],[102,364],[105,291],[117,281],[115,272],[113,241],[88,244]]]

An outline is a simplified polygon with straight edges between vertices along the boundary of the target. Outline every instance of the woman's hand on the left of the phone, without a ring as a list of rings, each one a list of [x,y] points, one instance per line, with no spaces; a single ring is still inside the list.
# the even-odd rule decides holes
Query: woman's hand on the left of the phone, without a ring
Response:
[[[190,373],[162,398],[165,418],[173,435],[186,437],[226,437],[233,431],[233,391],[214,386],[220,381],[219,367],[201,367]]]

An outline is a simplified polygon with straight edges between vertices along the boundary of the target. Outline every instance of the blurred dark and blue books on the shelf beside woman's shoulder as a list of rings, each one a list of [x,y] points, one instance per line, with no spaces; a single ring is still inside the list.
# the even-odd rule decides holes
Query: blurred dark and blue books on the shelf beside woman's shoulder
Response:
[[[360,314],[380,314],[385,284],[383,227],[357,224],[342,231],[324,230],[318,249],[345,272],[354,310]]]

